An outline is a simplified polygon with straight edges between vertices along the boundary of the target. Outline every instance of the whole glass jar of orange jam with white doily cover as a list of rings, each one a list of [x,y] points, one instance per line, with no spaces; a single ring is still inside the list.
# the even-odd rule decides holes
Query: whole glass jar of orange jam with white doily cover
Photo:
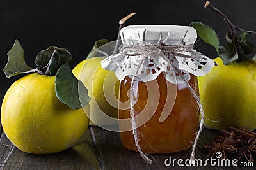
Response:
[[[133,25],[124,27],[120,35],[120,53],[108,57],[103,67],[115,71],[121,81],[118,118],[122,144],[137,150],[136,128],[143,152],[189,148],[199,125],[196,76],[207,74],[214,66],[211,59],[193,49],[195,29]],[[127,101],[131,107],[124,106]]]

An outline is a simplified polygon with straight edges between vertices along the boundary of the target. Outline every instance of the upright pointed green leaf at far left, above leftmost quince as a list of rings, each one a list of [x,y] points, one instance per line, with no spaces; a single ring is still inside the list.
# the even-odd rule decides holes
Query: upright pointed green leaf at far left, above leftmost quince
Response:
[[[31,70],[25,62],[25,54],[18,39],[15,40],[14,45],[7,53],[8,62],[4,67],[4,74],[10,78],[17,74],[28,73]]]

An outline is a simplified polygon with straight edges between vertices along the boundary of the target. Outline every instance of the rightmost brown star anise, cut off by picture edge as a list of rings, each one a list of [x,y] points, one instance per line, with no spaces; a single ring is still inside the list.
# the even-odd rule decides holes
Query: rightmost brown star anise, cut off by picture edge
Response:
[[[244,157],[248,162],[254,162],[253,155],[256,155],[256,136],[248,141],[243,138],[242,147],[237,148],[237,150],[239,152],[237,156],[238,161]]]

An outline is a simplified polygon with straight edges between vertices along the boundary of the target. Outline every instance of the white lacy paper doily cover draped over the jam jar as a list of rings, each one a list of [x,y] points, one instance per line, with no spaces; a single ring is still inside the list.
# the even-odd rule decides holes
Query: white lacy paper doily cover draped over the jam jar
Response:
[[[111,55],[102,60],[101,66],[104,69],[115,71],[117,78],[122,81],[125,76],[136,75],[138,81],[151,81],[157,78],[161,72],[166,74],[166,80],[171,83],[184,83],[190,80],[190,74],[204,76],[211,71],[214,61],[193,48],[185,48],[193,45],[196,41],[196,30],[193,27],[177,25],[131,25],[121,29],[122,44],[128,50],[116,55]],[[161,45],[177,47],[177,53],[164,55],[157,48]],[[148,46],[150,44],[151,46]],[[136,46],[140,46],[147,55],[134,55]],[[183,47],[184,48],[183,48]],[[134,48],[134,50],[132,50]],[[144,49],[145,48],[145,49]],[[190,56],[190,57],[184,57]],[[150,66],[150,67],[149,67]],[[184,78],[181,78],[175,71],[179,69]]]

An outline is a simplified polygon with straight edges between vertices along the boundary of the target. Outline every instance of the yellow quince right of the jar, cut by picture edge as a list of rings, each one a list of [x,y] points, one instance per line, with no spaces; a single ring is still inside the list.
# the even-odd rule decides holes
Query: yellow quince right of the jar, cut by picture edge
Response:
[[[225,66],[220,57],[212,71],[198,77],[205,127],[256,128],[256,62],[244,59]]]

